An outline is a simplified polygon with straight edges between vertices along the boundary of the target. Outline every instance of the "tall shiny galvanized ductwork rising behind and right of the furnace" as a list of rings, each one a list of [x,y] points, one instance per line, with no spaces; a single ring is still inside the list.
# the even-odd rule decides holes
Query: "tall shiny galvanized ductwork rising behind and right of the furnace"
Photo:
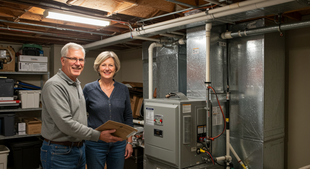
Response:
[[[273,24],[260,19],[231,25],[230,30],[262,27],[266,22],[266,25]],[[217,37],[224,30],[225,26],[219,25],[211,29],[210,78],[226,111],[226,40]],[[204,32],[204,26],[187,29],[188,98],[206,97]],[[249,168],[283,168],[284,37],[277,32],[265,33],[229,39],[228,45],[231,145]],[[195,48],[199,48],[199,54],[193,53]],[[211,106],[218,106],[212,93]],[[213,126],[212,135],[219,134],[223,125]],[[212,153],[214,156],[225,154],[225,137],[212,142]],[[232,158],[234,168],[242,169],[233,155]]]

